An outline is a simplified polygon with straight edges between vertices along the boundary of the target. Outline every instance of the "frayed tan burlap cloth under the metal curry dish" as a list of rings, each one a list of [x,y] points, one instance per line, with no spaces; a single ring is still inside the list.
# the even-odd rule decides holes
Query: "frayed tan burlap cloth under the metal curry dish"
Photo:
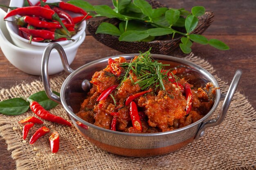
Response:
[[[214,74],[213,67],[206,61],[190,55],[186,60],[206,68]],[[231,73],[232,74],[232,73]],[[215,75],[221,92],[226,93],[228,85]],[[59,91],[65,76],[51,80],[52,87]],[[20,84],[11,89],[0,91],[0,100],[29,96],[42,91],[40,81]],[[219,106],[221,106],[220,103]],[[217,108],[213,118],[216,117]],[[62,106],[52,109],[53,114],[67,119]],[[17,122],[33,115],[31,111],[19,116],[0,115],[0,135],[6,140],[8,150],[16,161],[17,170],[156,170],[156,169],[256,169],[256,112],[245,96],[234,95],[225,120],[220,126],[207,129],[206,134],[188,146],[167,155],[157,157],[123,157],[103,151],[84,139],[74,127],[61,126],[45,121],[51,132],[57,130],[60,135],[60,150],[52,154],[49,148],[49,135],[35,144],[28,143],[34,131],[41,125],[35,125],[22,139],[22,126]]]

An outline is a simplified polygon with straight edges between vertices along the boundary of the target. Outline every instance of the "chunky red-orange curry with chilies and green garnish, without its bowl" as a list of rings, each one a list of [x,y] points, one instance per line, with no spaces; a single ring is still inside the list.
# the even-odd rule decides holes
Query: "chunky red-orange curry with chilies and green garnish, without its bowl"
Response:
[[[77,113],[81,119],[128,133],[175,130],[198,121],[211,110],[216,97],[212,83],[198,87],[186,66],[171,67],[154,60],[150,51],[108,59],[92,76],[92,88]]]

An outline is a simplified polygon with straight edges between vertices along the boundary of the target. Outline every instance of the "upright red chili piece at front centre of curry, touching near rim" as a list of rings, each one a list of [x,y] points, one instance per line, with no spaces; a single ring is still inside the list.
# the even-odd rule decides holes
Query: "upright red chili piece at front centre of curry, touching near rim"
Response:
[[[130,104],[130,117],[132,119],[132,126],[142,132],[141,121],[139,119],[139,113],[135,102]]]

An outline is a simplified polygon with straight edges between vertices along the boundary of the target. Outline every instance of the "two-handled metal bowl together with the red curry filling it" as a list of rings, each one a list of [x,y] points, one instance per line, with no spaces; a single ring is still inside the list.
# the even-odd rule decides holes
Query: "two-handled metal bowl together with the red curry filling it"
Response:
[[[52,49],[70,74],[60,96],[52,93],[49,82]],[[74,71],[63,48],[51,43],[42,60],[45,92],[63,105],[76,130],[95,146],[131,157],[163,155],[225,119],[242,71],[236,71],[225,97],[204,68],[177,57],[151,57],[149,52],[105,57]],[[210,119],[221,99],[218,116]]]

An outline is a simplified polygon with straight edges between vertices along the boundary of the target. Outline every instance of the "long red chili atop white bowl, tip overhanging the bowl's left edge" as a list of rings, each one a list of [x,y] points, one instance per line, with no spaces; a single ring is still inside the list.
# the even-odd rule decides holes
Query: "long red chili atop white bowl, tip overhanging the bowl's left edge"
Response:
[[[58,15],[52,9],[47,9],[38,6],[17,8],[7,13],[4,19],[11,17],[13,15],[34,15],[38,17],[43,17],[47,20],[57,20],[61,24],[63,29],[67,31],[67,34],[70,36],[69,31],[67,30],[61,19],[58,17]]]

